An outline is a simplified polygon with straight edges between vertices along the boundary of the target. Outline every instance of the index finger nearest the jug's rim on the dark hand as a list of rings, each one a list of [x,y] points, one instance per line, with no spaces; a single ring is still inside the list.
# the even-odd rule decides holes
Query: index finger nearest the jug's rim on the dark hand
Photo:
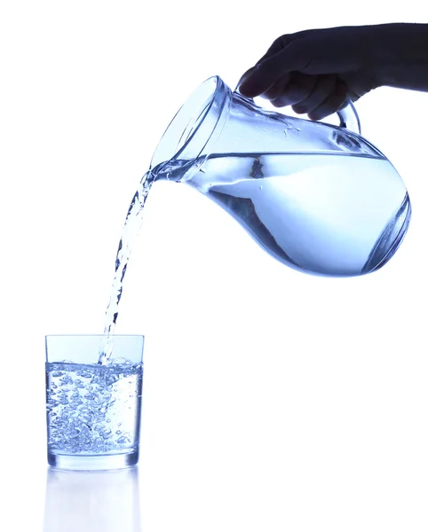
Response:
[[[303,70],[310,63],[310,56],[300,40],[289,43],[286,48],[258,63],[242,82],[240,92],[254,98],[265,93],[283,74]]]

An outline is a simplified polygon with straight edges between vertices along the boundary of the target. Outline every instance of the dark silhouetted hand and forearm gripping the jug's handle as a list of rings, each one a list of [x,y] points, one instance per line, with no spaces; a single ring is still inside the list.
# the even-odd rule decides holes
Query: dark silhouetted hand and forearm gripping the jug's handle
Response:
[[[321,120],[369,90],[428,90],[428,25],[312,29],[276,39],[242,75],[243,96]]]

